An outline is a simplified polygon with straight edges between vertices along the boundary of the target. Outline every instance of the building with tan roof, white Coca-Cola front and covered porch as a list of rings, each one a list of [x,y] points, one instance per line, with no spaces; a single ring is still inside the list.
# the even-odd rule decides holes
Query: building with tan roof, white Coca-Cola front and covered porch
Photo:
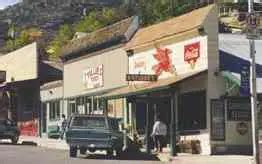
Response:
[[[200,143],[197,153],[211,154],[210,102],[225,91],[223,78],[215,75],[216,22],[216,7],[210,5],[142,28],[127,43],[129,85],[103,97],[127,99],[124,115],[129,134],[145,138],[148,152],[154,119],[160,115],[168,126],[172,155],[177,144],[193,140]]]

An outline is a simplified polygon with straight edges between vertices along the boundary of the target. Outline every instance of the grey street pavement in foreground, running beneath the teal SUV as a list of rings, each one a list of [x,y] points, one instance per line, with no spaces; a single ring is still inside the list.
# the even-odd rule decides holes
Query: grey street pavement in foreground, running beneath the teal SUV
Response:
[[[36,146],[0,144],[0,164],[158,164],[159,159],[145,154],[123,155],[120,159],[97,155],[69,158],[68,151]]]

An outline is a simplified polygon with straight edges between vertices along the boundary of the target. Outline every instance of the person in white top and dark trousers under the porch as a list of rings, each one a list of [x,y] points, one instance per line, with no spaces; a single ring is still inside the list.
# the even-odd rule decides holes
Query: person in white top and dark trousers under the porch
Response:
[[[154,140],[154,147],[156,152],[162,152],[165,142],[165,137],[167,135],[167,126],[164,122],[160,120],[160,116],[156,117],[153,131],[151,136]]]

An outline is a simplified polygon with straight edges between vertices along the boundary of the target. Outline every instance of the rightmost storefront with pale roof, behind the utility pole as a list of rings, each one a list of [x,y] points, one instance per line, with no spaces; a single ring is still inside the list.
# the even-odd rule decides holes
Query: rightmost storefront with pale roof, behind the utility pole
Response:
[[[262,52],[262,42],[255,43],[256,54]],[[220,34],[220,75],[226,82],[225,96],[214,104],[224,105],[224,116],[216,116],[224,124],[224,134],[215,137],[217,152],[227,149],[238,153],[252,153],[251,105],[250,105],[250,55],[249,40],[245,35]],[[258,126],[261,129],[262,58],[256,55]],[[222,108],[222,107],[220,107]],[[222,110],[221,110],[222,111]],[[218,124],[218,123],[216,123]],[[261,137],[261,130],[260,130]],[[215,141],[214,141],[215,142]]]

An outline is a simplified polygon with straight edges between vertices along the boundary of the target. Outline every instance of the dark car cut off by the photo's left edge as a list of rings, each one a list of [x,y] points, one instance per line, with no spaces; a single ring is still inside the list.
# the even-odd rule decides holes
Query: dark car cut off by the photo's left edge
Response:
[[[0,119],[0,139],[10,139],[13,144],[18,142],[20,131],[14,121]]]

